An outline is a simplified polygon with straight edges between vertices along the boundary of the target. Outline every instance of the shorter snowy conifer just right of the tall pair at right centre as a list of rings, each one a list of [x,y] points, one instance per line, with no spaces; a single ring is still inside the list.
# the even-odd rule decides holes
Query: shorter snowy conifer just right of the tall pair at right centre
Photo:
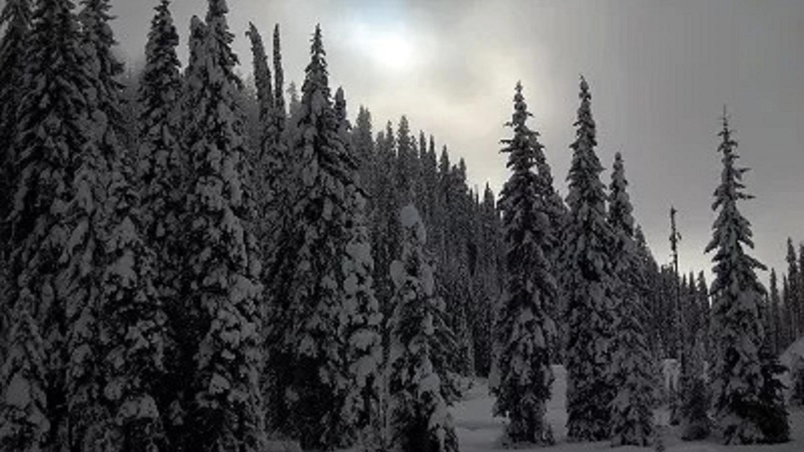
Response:
[[[613,376],[616,395],[611,402],[612,446],[648,446],[654,434],[653,377],[650,348],[645,333],[645,269],[634,241],[633,208],[628,196],[622,155],[614,157],[609,185],[608,223],[616,236],[611,250],[620,300],[613,328]]]

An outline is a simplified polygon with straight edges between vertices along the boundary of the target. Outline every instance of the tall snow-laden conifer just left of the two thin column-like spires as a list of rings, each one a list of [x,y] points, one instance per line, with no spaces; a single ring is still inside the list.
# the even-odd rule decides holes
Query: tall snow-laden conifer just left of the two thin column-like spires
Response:
[[[258,390],[260,263],[248,236],[244,130],[236,106],[225,0],[209,0],[206,27],[194,19],[194,58],[187,69],[197,101],[186,136],[188,327],[199,333],[192,358],[184,450],[258,450],[263,421]],[[203,33],[199,33],[203,31]],[[194,347],[191,347],[193,346]]]

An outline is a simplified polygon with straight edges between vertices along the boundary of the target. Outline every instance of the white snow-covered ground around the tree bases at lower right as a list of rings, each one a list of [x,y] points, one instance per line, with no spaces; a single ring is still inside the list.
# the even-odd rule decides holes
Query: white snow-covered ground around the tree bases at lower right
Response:
[[[567,378],[564,367],[554,366],[553,372],[556,381],[553,383],[553,397],[548,404],[548,421],[552,425],[556,436],[556,446],[547,448],[533,448],[524,450],[545,450],[552,452],[608,452],[616,451],[650,451],[652,447],[624,446],[612,448],[608,442],[567,442],[567,413],[564,409],[564,393],[567,388]],[[466,392],[463,401],[453,407],[453,418],[457,430],[461,452],[486,452],[499,450],[498,439],[503,432],[503,419],[491,416],[491,407],[494,398],[488,394],[488,386],[483,380],[476,380],[475,384]],[[790,413],[790,431],[792,441],[786,444],[773,446],[723,446],[712,441],[683,442],[677,434],[675,427],[667,426],[667,413],[658,412],[657,421],[662,425],[662,439],[667,451],[678,452],[723,452],[723,451],[753,451],[761,452],[804,452],[804,410],[796,409]]]

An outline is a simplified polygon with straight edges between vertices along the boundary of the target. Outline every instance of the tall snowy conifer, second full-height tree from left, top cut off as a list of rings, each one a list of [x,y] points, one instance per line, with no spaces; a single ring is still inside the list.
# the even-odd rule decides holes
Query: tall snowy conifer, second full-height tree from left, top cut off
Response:
[[[85,91],[88,101],[88,127],[90,139],[80,150],[77,171],[73,181],[76,201],[68,210],[67,224],[72,227],[68,255],[71,255],[63,277],[72,280],[66,297],[68,322],[66,388],[69,425],[69,446],[79,450],[90,444],[114,447],[117,442],[114,430],[108,425],[111,417],[107,400],[122,402],[110,397],[105,387],[109,377],[105,369],[105,353],[110,343],[109,331],[125,334],[128,325],[119,325],[105,318],[109,300],[127,304],[141,287],[138,282],[128,286],[140,276],[129,245],[139,240],[133,224],[121,224],[138,203],[137,195],[129,187],[122,171],[128,171],[132,160],[125,158],[122,146],[125,125],[121,113],[123,85],[118,77],[123,64],[113,55],[114,40],[110,21],[109,0],[84,0],[79,14],[81,23],[81,50],[84,71],[90,86]],[[124,162],[125,160],[125,162]],[[131,177],[130,179],[133,179]],[[131,226],[131,228],[129,228]],[[124,230],[120,230],[120,228]],[[140,250],[137,250],[140,251]],[[129,253],[120,261],[123,254]],[[121,262],[130,263],[120,268]],[[109,265],[107,269],[104,269]],[[110,276],[109,273],[116,273]],[[149,286],[146,281],[145,286]],[[129,291],[130,290],[130,291]],[[146,294],[144,303],[154,302]],[[117,369],[116,369],[117,370]],[[109,370],[117,373],[116,370]],[[115,375],[117,376],[117,375]],[[128,421],[128,419],[126,419]]]

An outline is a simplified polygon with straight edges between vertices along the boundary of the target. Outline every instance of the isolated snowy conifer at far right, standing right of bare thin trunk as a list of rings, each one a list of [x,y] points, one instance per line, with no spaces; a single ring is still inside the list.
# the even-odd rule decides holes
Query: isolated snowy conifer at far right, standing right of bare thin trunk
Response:
[[[777,401],[763,394],[763,388],[770,384],[765,380],[776,377],[760,354],[765,336],[760,318],[765,288],[755,273],[765,266],[743,249],[744,245],[753,248],[752,232],[749,221],[737,210],[737,202],[752,196],[743,191],[742,177],[748,170],[735,166],[737,142],[725,115],[718,135],[723,140],[719,150],[724,169],[712,208],[720,212],[706,248],[706,252],[716,250],[712,295],[718,360],[712,368],[712,405],[726,444],[769,442],[775,426],[766,424],[765,416],[777,410]],[[774,420],[787,422],[786,416]]]

